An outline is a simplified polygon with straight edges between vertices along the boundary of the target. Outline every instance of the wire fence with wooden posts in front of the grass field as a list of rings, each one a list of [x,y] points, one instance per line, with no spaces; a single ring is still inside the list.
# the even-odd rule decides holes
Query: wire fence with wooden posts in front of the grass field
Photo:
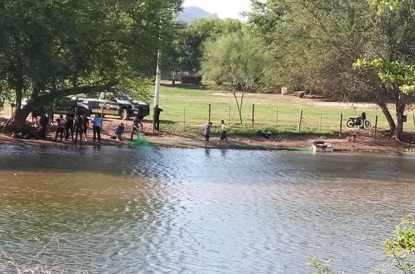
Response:
[[[286,105],[249,104],[243,105],[241,117],[236,105],[215,103],[206,105],[184,105],[180,108],[165,108],[162,125],[176,132],[193,132],[204,128],[206,123],[213,122],[214,128],[220,128],[224,120],[230,133],[247,131],[269,132],[345,132],[350,129],[347,121],[366,112],[366,120],[377,130],[389,129],[388,121],[376,105],[368,108],[317,108],[312,105],[307,108],[287,108]],[[163,121],[164,119],[164,121]],[[242,120],[242,124],[241,121]],[[357,125],[355,126],[357,127]],[[405,131],[415,129],[415,115],[407,113]]]

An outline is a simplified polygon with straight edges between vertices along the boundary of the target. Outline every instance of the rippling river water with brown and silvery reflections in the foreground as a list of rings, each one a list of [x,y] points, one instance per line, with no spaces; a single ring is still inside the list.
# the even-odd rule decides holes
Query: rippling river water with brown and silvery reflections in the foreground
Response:
[[[369,273],[383,262],[381,240],[415,210],[414,164],[414,155],[0,146],[0,252],[23,262],[55,235],[59,245],[35,263],[301,274],[316,256]]]

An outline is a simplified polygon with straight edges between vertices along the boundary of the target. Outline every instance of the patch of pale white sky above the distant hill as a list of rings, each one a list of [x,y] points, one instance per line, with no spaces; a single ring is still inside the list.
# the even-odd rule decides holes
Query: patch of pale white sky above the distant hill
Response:
[[[220,18],[241,18],[240,13],[250,10],[250,0],[185,0],[185,7],[196,5]]]

